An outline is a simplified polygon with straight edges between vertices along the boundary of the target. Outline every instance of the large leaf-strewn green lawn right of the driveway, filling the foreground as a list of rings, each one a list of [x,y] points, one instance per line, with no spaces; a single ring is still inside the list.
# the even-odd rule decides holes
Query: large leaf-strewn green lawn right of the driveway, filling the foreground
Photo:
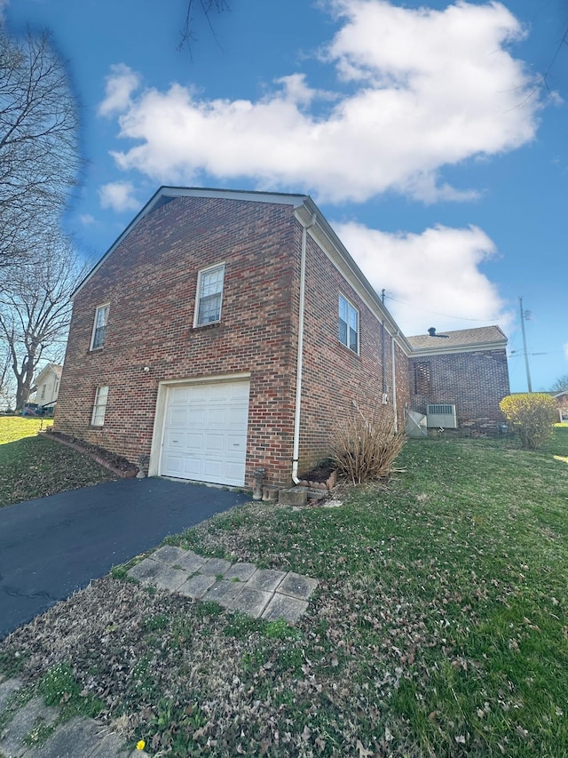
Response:
[[[319,578],[291,629],[104,578],[0,644],[61,662],[152,755],[568,755],[568,427],[410,441],[343,506],[250,503],[169,538]],[[15,658],[15,653],[20,658]],[[19,661],[19,663],[16,662]]]

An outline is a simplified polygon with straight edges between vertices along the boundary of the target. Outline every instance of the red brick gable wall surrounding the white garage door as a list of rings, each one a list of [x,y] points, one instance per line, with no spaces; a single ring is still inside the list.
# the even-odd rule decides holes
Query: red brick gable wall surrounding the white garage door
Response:
[[[159,381],[250,371],[247,470],[289,477],[299,255],[288,205],[179,197],[141,219],[75,299],[55,427],[138,463]],[[221,323],[193,329],[198,270],[222,261]],[[107,301],[105,345],[90,351]],[[99,385],[106,419],[93,428]]]

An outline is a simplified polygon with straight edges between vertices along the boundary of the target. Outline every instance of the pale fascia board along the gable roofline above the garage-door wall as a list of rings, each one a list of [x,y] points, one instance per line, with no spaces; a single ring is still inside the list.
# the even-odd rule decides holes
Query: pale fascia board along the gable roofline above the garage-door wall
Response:
[[[106,253],[101,259],[91,268],[89,274],[85,276],[82,282],[80,282],[75,291],[71,295],[71,300],[75,299],[76,295],[83,289],[83,286],[88,283],[93,275],[99,271],[99,268],[103,265],[109,255],[111,255],[116,248],[126,239],[134,227],[144,219],[147,214],[153,210],[156,203],[158,203],[162,197],[212,197],[224,200],[243,200],[254,201],[255,203],[277,203],[282,205],[292,205],[297,208],[302,205],[306,199],[306,195],[288,195],[284,192],[255,192],[240,189],[202,189],[192,187],[161,187],[154,195],[148,200],[146,205],[138,211],[137,215],[130,221],[128,227],[124,229],[122,234],[118,236],[114,243],[108,248]]]

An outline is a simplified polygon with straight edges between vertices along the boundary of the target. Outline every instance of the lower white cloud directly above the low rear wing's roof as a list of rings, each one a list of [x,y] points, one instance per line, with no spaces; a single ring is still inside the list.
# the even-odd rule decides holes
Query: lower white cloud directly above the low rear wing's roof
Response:
[[[386,234],[359,223],[335,223],[335,231],[405,334],[471,329],[510,315],[497,288],[478,267],[496,254],[477,227],[436,226],[422,234]]]

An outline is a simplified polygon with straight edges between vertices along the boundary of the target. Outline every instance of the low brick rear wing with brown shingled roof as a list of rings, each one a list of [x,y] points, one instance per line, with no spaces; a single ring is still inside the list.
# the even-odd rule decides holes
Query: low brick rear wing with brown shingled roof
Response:
[[[507,338],[498,326],[409,337],[411,408],[455,405],[458,427],[494,428],[503,417],[499,403],[509,395]]]

